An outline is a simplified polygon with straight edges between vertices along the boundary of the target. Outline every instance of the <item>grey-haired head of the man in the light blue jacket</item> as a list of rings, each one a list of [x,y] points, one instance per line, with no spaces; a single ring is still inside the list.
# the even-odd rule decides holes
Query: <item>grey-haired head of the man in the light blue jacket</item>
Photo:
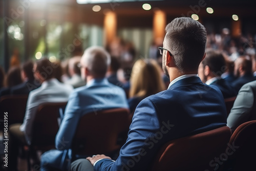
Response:
[[[81,58],[81,64],[86,67],[95,78],[105,77],[111,63],[110,54],[102,47],[86,49]]]

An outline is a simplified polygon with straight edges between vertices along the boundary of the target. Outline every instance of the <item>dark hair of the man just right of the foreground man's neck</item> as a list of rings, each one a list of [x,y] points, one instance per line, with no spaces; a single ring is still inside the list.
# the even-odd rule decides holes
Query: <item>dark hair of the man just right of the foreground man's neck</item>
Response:
[[[216,50],[207,50],[202,64],[203,67],[208,66],[215,76],[221,76],[226,71],[226,61],[222,53]]]

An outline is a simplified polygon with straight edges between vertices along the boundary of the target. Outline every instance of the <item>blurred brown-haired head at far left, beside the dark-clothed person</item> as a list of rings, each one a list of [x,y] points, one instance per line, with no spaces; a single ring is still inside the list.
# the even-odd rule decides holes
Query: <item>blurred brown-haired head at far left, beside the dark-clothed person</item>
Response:
[[[7,73],[5,86],[12,87],[22,83],[22,75],[19,67],[12,67]]]

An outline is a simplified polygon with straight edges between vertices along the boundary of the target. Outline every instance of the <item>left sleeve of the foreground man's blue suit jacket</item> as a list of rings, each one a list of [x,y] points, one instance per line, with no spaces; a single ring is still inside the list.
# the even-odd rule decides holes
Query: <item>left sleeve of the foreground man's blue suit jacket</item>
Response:
[[[94,170],[144,170],[158,149],[158,140],[154,137],[159,127],[156,106],[148,98],[142,100],[135,110],[127,141],[116,162],[100,160]]]

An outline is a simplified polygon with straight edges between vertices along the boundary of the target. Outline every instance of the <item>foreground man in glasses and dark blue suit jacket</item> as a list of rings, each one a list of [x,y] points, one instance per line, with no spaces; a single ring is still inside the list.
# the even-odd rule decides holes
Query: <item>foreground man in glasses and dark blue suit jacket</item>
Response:
[[[163,69],[171,81],[168,90],[138,104],[128,138],[116,161],[96,155],[74,161],[71,170],[150,170],[150,163],[166,142],[226,126],[221,91],[211,89],[197,76],[205,55],[204,26],[192,18],[180,17],[165,30],[160,49]],[[164,134],[156,140],[163,130]]]

